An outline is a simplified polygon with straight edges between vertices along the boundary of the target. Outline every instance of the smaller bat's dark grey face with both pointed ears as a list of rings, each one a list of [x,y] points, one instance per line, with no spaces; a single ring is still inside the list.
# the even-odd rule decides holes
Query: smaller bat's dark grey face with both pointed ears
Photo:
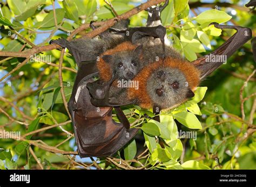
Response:
[[[116,71],[119,80],[131,80],[139,73],[142,66],[139,55],[142,47],[138,46],[134,51],[123,51],[113,55],[104,55],[103,59]]]

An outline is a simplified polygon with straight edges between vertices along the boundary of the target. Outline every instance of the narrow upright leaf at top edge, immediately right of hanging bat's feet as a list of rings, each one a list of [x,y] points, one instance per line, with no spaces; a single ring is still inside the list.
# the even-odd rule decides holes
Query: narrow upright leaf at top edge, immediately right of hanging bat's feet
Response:
[[[174,5],[173,0],[169,1],[169,4],[161,12],[161,22],[163,25],[171,25],[174,18]]]

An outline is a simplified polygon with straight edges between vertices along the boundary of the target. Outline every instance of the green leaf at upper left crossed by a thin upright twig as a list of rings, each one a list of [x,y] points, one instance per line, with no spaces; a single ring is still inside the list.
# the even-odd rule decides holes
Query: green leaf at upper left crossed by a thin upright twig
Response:
[[[57,24],[59,24],[65,16],[65,10],[64,9],[56,9],[56,19]],[[51,10],[47,16],[43,19],[43,21],[37,22],[34,27],[35,28],[48,28],[55,26],[55,20],[53,16],[53,10]]]

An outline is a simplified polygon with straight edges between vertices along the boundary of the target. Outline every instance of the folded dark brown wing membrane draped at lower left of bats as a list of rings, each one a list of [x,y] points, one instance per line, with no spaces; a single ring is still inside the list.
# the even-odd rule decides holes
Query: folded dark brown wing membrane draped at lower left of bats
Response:
[[[69,100],[69,111],[80,157],[111,156],[138,131],[137,128],[130,128],[129,121],[122,113],[118,114],[118,117],[121,116],[120,121],[126,124],[114,122],[112,107],[96,107],[91,104],[86,84],[93,82],[93,77],[98,75],[97,70],[93,70],[94,65],[95,63],[82,63]],[[120,109],[117,110],[120,112]]]

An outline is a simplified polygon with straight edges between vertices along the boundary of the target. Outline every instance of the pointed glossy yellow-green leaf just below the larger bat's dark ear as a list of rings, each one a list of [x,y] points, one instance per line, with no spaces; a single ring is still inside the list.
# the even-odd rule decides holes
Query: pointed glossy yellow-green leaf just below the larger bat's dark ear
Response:
[[[200,121],[197,119],[197,117],[193,113],[179,112],[179,113],[173,114],[173,117],[176,118],[179,121],[179,123],[185,125],[188,128],[202,129]]]

